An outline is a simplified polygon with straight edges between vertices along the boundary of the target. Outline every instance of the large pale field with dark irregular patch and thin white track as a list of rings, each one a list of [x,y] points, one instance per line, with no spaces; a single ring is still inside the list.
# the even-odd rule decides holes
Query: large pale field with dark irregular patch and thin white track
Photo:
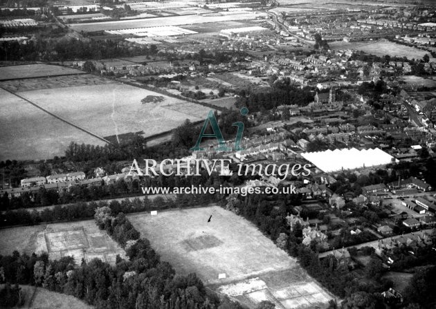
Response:
[[[153,135],[186,119],[206,118],[208,108],[125,84],[100,84],[20,93],[44,109],[100,136],[133,131]],[[163,102],[141,103],[147,95]]]

